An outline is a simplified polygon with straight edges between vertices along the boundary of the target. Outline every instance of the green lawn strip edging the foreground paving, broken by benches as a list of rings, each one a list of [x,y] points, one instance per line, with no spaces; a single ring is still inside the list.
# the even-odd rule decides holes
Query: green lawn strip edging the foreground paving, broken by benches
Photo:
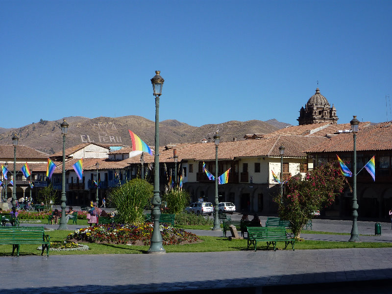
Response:
[[[55,230],[48,234],[50,241],[63,241],[72,231]],[[246,250],[246,239],[232,240],[223,237],[201,236],[202,242],[189,245],[164,245],[167,253],[172,252],[213,252],[213,251],[240,251]],[[119,244],[95,244],[81,242],[90,247],[87,251],[50,251],[49,255],[66,255],[66,254],[138,254],[145,253],[149,246],[136,245],[119,245]],[[21,245],[20,255],[40,255],[41,251],[37,250],[37,245]],[[289,245],[289,247],[291,247]],[[290,250],[289,247],[286,250]],[[369,243],[369,242],[328,242],[328,241],[301,241],[296,242],[294,248],[298,249],[333,249],[333,248],[380,248],[392,247],[392,243]],[[278,242],[277,248],[283,249],[284,243]],[[250,248],[249,250],[253,250]],[[266,250],[266,243],[259,243],[257,250]],[[273,249],[269,249],[273,250]],[[10,256],[12,245],[0,245],[0,256]],[[45,254],[45,253],[44,253]]]

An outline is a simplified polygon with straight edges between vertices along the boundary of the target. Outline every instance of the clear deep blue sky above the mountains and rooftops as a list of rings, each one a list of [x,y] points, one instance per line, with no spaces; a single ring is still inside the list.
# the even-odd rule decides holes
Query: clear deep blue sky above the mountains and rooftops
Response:
[[[0,0],[0,127],[153,121],[155,70],[161,121],[297,125],[318,86],[338,123],[390,121],[391,15],[388,0]]]

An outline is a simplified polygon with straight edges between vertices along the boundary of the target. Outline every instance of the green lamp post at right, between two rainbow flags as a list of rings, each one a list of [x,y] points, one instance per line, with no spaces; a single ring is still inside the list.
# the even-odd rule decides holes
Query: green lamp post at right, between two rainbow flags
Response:
[[[357,120],[357,116],[354,115],[353,119],[350,122],[351,131],[354,138],[354,165],[353,165],[353,189],[352,189],[352,228],[351,228],[351,237],[349,242],[360,242],[358,235],[358,226],[357,226],[357,218],[358,218],[358,203],[357,203],[357,132],[359,121]]]

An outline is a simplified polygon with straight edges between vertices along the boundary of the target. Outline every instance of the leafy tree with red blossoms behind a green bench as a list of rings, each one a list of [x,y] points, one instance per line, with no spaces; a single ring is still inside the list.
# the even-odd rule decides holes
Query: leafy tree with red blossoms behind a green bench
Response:
[[[291,177],[286,185],[286,193],[274,196],[279,206],[279,217],[290,221],[296,239],[300,238],[302,227],[312,219],[314,212],[329,207],[335,196],[343,192],[345,178],[339,170],[339,163],[329,162]]]

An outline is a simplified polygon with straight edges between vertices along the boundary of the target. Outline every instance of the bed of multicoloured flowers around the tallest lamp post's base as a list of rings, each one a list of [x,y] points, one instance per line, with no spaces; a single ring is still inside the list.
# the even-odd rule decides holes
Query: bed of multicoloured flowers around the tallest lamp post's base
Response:
[[[146,222],[143,224],[102,224],[94,227],[87,227],[75,230],[67,236],[67,240],[76,239],[79,241],[116,243],[116,244],[136,244],[140,240],[144,245],[150,244],[153,224]],[[161,224],[163,245],[176,245],[182,242],[196,242],[199,238],[183,229],[173,228],[168,224]]]

